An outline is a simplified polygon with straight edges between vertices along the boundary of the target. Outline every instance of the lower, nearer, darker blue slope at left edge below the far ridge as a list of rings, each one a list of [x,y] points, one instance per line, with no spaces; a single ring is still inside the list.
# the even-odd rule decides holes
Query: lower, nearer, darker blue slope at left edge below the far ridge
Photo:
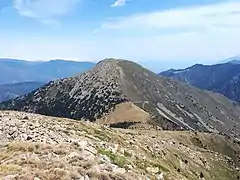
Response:
[[[43,85],[44,83],[40,82],[24,82],[0,85],[0,102],[8,101],[18,96],[30,93]]]

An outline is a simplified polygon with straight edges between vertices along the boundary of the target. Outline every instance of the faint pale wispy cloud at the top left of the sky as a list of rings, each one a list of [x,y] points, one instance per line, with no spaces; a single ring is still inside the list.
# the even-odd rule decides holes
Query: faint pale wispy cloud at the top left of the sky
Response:
[[[68,14],[80,0],[14,0],[14,8],[22,16],[42,23],[58,23],[57,16]]]

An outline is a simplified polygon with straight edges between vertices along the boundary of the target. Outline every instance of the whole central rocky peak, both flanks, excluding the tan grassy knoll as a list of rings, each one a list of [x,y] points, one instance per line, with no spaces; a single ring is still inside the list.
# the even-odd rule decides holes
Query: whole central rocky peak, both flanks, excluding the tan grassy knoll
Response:
[[[114,111],[121,112],[117,108],[127,103],[132,103],[129,108],[134,112],[140,112],[140,108],[145,117],[149,114],[144,125],[237,137],[240,134],[240,108],[233,101],[159,77],[125,60],[101,61],[90,71],[50,82],[26,96],[0,104],[0,108],[98,121]],[[130,123],[131,118],[125,116],[118,123]]]

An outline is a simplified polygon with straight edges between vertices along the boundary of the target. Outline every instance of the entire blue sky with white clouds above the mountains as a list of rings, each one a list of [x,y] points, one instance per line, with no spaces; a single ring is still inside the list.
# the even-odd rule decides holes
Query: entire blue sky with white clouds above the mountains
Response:
[[[0,57],[173,67],[240,55],[239,0],[1,0]]]

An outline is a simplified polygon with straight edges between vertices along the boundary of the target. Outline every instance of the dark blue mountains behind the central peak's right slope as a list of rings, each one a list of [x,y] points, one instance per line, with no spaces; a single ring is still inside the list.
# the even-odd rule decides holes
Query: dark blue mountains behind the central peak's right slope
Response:
[[[160,73],[189,85],[221,93],[240,102],[240,58],[230,58],[216,65],[196,64],[186,69],[170,69]]]

